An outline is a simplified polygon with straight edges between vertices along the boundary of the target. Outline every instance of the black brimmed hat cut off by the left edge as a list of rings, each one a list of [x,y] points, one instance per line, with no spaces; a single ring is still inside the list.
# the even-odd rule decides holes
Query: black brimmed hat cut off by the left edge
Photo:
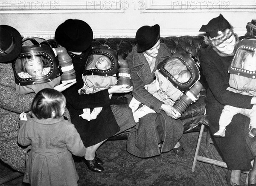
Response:
[[[20,33],[8,25],[0,25],[0,63],[14,60],[21,51]]]

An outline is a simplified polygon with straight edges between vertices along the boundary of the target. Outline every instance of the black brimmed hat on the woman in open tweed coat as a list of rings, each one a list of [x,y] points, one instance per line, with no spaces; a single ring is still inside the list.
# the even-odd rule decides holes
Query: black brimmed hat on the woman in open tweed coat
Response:
[[[154,26],[142,26],[137,32],[135,39],[137,41],[137,52],[145,52],[151,49],[159,40],[160,26],[158,24]]]

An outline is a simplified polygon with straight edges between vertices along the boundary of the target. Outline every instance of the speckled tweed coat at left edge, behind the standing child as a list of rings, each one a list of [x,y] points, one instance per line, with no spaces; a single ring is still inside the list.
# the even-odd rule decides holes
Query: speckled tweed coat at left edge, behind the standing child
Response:
[[[0,79],[0,159],[23,172],[26,151],[17,144],[19,115],[29,112],[35,93],[17,93],[12,63],[0,63]],[[64,116],[70,120],[67,109]]]

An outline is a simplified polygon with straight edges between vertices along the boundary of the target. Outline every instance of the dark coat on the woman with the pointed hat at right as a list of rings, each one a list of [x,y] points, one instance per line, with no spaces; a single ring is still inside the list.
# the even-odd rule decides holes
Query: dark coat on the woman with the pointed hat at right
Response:
[[[212,46],[202,45],[199,52],[200,65],[209,88],[206,97],[206,113],[212,134],[218,131],[219,118],[224,105],[251,109],[251,96],[230,92],[228,67],[233,56],[221,57]],[[249,118],[236,114],[227,126],[226,137],[214,138],[224,161],[230,170],[250,170],[251,152],[256,152],[256,139],[248,137]],[[247,139],[248,138],[248,139]],[[248,149],[248,146],[251,148]],[[250,152],[251,151],[251,152]]]

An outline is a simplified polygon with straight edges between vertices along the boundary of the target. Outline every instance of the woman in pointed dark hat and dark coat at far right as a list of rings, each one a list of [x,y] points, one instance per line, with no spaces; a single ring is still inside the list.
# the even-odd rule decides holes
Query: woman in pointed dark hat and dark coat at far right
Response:
[[[199,58],[209,85],[206,113],[210,131],[214,134],[218,131],[218,122],[224,105],[250,109],[256,104],[256,99],[227,90],[230,77],[228,67],[239,40],[230,23],[220,14],[210,20],[207,25],[203,25],[200,31],[207,34],[206,45],[201,46],[203,49],[199,53]],[[240,185],[241,170],[250,171],[247,174],[247,183],[250,186],[256,185],[256,139],[248,137],[249,123],[247,116],[236,114],[227,127],[226,137],[214,138],[215,144],[227,163],[229,171],[226,178],[229,185]]]

